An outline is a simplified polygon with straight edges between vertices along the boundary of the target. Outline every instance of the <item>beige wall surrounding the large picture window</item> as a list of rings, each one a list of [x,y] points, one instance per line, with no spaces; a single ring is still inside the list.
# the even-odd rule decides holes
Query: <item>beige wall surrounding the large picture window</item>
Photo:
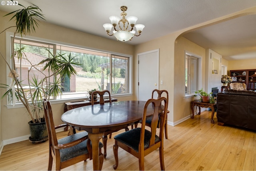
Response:
[[[0,31],[4,30],[8,26],[14,25],[14,22],[8,22],[10,20],[9,17],[2,17],[6,13],[0,11]],[[86,34],[83,32],[78,32],[75,30],[71,30],[68,28],[63,28],[60,26],[56,26],[53,24],[48,24],[45,22],[41,22],[39,24],[39,28],[36,29],[36,33],[30,34],[30,36],[54,40],[58,42],[65,42],[69,44],[74,44],[78,46],[84,46],[99,50],[106,50],[110,52],[118,52],[122,54],[134,55],[134,46],[128,45],[123,42],[109,40],[106,38],[100,38],[98,36],[93,36],[90,34]],[[14,29],[9,29],[8,32],[14,32]],[[0,34],[0,52],[3,56],[6,56],[6,38],[5,32]],[[6,84],[6,64],[2,57],[0,58],[0,81],[1,84]],[[1,91],[1,96],[4,91]],[[133,95],[134,96],[134,95]],[[126,97],[118,97],[118,100],[128,100],[134,99],[133,96]],[[22,137],[25,135],[29,135],[29,127],[28,121],[30,121],[30,117],[28,113],[26,113],[26,109],[24,107],[7,109],[6,107],[7,99],[1,99],[1,128],[0,128],[0,142],[2,140],[12,139],[16,137]],[[60,124],[62,121],[60,120],[60,116],[63,113],[64,103],[54,104],[52,105],[52,109],[54,111],[55,124]]]

